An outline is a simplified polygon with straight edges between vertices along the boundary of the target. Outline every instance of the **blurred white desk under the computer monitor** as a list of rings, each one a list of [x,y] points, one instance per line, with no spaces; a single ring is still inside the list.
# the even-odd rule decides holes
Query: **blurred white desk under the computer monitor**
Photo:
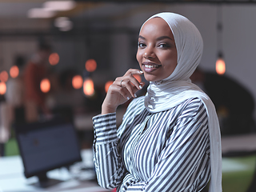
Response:
[[[90,182],[94,178],[94,170],[78,172],[78,166],[94,167],[92,151],[82,150],[82,162],[71,167],[71,173],[66,168],[51,170],[49,178],[55,178],[63,182],[50,186],[46,189],[34,185],[37,177],[25,178],[23,174],[22,158],[12,156],[0,158],[0,192],[105,192],[96,182]],[[80,164],[79,164],[80,163]],[[76,171],[77,169],[77,171]]]

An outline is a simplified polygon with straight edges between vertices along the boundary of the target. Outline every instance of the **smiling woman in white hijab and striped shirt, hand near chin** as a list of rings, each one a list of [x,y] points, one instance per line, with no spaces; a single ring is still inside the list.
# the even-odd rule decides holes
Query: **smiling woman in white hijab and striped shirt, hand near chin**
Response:
[[[221,192],[218,118],[210,98],[190,82],[202,56],[202,37],[187,18],[155,14],[138,37],[137,60],[116,78],[94,122],[98,183],[118,191]],[[145,97],[132,74],[144,74]],[[134,98],[116,128],[118,105]]]

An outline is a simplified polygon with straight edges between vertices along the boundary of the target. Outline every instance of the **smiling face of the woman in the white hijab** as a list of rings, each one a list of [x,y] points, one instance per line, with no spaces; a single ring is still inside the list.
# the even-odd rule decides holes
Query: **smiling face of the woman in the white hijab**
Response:
[[[137,60],[149,82],[167,78],[177,66],[174,35],[162,18],[147,21],[138,36]]]

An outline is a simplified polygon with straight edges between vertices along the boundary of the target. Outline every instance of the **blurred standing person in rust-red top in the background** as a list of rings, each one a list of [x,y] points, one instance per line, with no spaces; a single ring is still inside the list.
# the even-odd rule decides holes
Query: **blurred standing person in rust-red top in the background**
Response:
[[[46,106],[46,94],[40,89],[40,82],[47,75],[46,65],[50,53],[51,47],[40,43],[37,52],[26,65],[24,82],[27,122],[37,121],[38,114],[50,114],[50,110]]]

